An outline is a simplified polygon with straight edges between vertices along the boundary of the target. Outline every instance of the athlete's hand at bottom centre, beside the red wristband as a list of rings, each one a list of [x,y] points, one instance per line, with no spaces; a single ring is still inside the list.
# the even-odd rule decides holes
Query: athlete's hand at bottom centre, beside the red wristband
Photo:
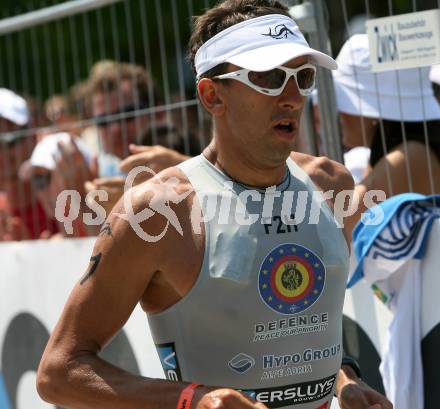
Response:
[[[203,388],[196,391],[195,401],[191,406],[194,409],[268,409],[266,405],[257,403],[243,393],[233,389],[216,389],[200,397]],[[199,396],[198,396],[199,395]]]

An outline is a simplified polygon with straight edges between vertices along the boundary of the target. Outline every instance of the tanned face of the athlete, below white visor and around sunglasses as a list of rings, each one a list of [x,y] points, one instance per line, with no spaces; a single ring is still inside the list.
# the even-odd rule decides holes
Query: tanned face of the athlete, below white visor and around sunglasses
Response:
[[[299,57],[284,64],[297,68],[307,63],[307,57]],[[230,66],[229,71],[239,67]],[[300,117],[305,98],[299,93],[292,77],[278,96],[268,96],[238,81],[217,84],[225,103],[226,143],[243,150],[257,162],[277,166],[284,162],[293,150],[298,137]]]

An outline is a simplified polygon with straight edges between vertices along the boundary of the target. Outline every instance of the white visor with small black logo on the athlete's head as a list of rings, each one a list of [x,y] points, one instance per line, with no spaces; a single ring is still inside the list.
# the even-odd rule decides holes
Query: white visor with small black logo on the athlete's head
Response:
[[[242,21],[210,38],[198,49],[195,67],[197,78],[225,62],[267,71],[303,55],[317,65],[337,68],[333,58],[309,47],[293,19],[269,14]]]

